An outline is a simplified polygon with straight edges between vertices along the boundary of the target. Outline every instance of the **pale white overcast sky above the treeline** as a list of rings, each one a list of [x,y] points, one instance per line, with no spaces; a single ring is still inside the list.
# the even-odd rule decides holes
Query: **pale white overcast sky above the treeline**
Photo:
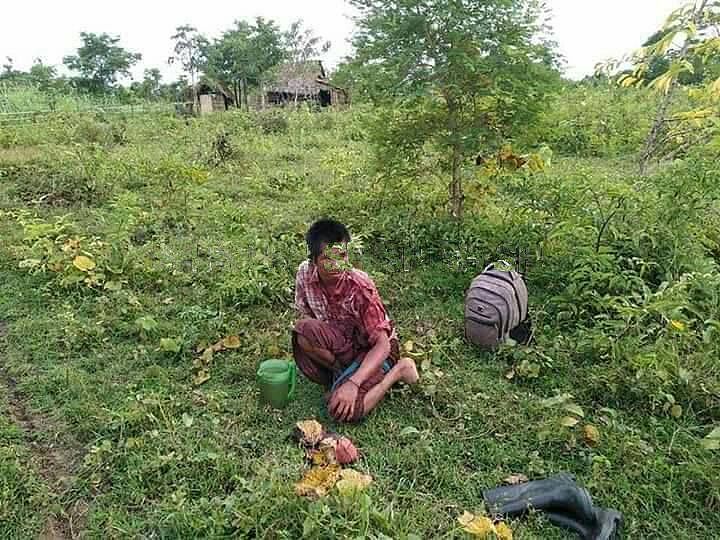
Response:
[[[595,64],[618,57],[642,44],[685,0],[548,0],[553,12],[555,39],[567,59],[566,74],[582,78]],[[306,26],[332,42],[325,56],[335,65],[350,51],[352,9],[344,0],[20,0],[10,2],[0,16],[0,62],[10,56],[18,69],[28,69],[33,58],[61,65],[63,56],[80,45],[79,34],[107,32],[121,45],[143,55],[134,69],[142,78],[145,68],[159,67],[168,78],[179,72],[168,67],[170,36],[189,23],[208,37],[218,36],[235,19],[261,15],[282,28],[303,19]]]

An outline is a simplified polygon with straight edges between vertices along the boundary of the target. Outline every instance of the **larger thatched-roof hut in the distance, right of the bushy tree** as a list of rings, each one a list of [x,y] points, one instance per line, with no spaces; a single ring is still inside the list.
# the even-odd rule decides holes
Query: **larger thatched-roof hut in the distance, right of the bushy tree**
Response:
[[[319,60],[282,65],[275,81],[265,87],[263,97],[270,105],[311,102],[328,107],[348,102],[347,92],[330,84]]]

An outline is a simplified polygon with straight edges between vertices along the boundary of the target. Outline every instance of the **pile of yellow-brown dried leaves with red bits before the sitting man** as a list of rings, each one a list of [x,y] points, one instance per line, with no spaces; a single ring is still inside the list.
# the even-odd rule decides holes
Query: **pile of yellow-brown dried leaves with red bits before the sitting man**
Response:
[[[343,468],[359,459],[359,452],[349,438],[326,432],[315,420],[295,424],[293,438],[305,449],[309,465],[302,479],[295,484],[297,495],[320,498],[337,488],[341,495],[348,496],[372,483],[372,476]]]

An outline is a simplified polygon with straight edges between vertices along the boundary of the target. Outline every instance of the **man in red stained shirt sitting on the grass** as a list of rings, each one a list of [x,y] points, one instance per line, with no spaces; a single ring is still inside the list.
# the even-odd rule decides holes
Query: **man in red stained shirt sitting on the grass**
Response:
[[[340,422],[370,413],[398,381],[418,380],[415,362],[400,358],[398,338],[380,295],[365,272],[348,262],[350,234],[320,220],[307,232],[309,260],[295,281],[302,319],[292,335],[300,371],[328,390],[328,412]]]

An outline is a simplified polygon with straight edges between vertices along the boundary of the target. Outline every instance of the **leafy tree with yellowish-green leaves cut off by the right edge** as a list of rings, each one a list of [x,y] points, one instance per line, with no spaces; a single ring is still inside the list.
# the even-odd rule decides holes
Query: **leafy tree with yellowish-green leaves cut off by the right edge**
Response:
[[[629,57],[599,66],[616,72],[622,86],[647,85],[662,94],[638,162],[641,174],[653,158],[672,158],[720,136],[720,2],[699,0],[671,13],[663,28]],[[670,114],[678,90],[687,88],[698,107]]]

